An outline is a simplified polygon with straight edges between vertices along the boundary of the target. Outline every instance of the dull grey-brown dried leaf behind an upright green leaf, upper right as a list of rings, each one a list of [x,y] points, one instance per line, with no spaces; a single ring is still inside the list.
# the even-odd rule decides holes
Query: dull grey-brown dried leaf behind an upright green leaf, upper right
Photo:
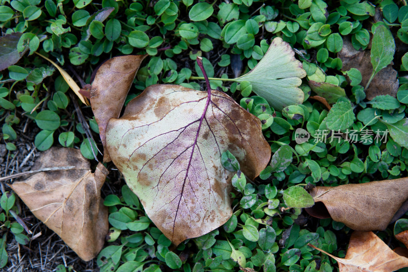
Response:
[[[359,69],[362,75],[361,85],[366,86],[373,71],[370,57],[371,42],[365,51],[357,51],[354,49],[348,37],[343,38],[342,50],[337,54],[343,62],[343,71],[350,68]],[[389,94],[396,97],[399,82],[397,79],[397,71],[392,68],[392,63],[386,68],[380,70],[370,86],[365,90],[368,100],[372,100],[377,95]]]

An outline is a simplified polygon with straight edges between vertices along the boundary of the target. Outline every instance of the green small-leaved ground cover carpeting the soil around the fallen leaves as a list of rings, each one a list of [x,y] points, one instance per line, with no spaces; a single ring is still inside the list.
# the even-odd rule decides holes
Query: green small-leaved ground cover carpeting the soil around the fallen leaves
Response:
[[[319,208],[314,186],[406,178],[405,1],[0,0],[0,28],[2,176],[18,171],[10,162],[27,163],[20,146],[31,141],[37,151],[79,149],[95,169],[104,146],[84,97],[98,66],[121,55],[146,55],[125,106],[155,84],[206,90],[196,62],[202,58],[211,88],[261,120],[272,152],[255,179],[234,155],[222,153],[232,172],[232,216],[177,246],[149,219],[115,165],[105,163],[111,174],[101,189],[110,224],[104,248],[94,262],[59,259],[48,270],[338,271],[338,261],[308,244],[345,258],[353,230],[305,211]],[[285,67],[271,69],[279,56],[266,56],[276,37],[293,48],[305,73],[288,77],[293,81],[281,89],[272,75]],[[80,98],[43,57],[80,85],[74,90]],[[300,96],[281,95],[296,94],[298,81]],[[22,252],[39,242],[22,216],[28,209],[3,181],[1,189],[0,267],[7,269],[15,259],[12,242]],[[408,230],[405,212],[375,232],[391,249],[403,246],[394,235]]]

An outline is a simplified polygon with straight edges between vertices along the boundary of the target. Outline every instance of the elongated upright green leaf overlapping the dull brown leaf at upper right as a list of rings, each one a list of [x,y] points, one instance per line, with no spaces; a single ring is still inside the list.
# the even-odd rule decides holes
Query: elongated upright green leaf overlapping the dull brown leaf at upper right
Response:
[[[392,62],[394,53],[395,42],[390,30],[385,26],[378,26],[375,29],[371,45],[372,77]]]

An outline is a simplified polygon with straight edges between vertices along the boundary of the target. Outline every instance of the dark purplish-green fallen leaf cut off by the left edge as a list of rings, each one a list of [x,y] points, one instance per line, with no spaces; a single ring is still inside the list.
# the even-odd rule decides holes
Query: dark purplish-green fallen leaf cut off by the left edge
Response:
[[[25,52],[28,50],[27,48],[18,53],[17,51],[17,44],[21,37],[22,33],[15,32],[8,34],[6,36],[0,37],[0,71],[6,69],[10,65],[17,63],[17,61],[24,55]]]

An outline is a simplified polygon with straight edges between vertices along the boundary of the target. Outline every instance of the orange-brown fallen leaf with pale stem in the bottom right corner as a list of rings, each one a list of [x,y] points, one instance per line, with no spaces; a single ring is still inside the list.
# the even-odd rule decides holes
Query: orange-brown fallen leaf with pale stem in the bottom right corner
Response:
[[[355,231],[351,234],[346,256],[335,257],[309,244],[339,263],[340,272],[391,272],[408,267],[408,258],[393,252],[377,235]]]

